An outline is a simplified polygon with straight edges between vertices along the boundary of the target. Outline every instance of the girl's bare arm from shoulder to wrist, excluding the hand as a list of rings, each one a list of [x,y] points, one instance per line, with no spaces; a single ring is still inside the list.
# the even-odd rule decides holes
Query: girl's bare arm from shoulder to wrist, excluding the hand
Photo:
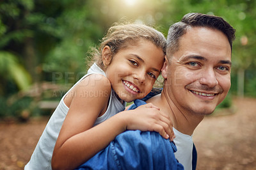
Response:
[[[113,139],[108,129],[92,128],[106,111],[110,93],[108,79],[93,74],[67,94],[64,101],[69,110],[54,147],[52,169],[74,169]]]

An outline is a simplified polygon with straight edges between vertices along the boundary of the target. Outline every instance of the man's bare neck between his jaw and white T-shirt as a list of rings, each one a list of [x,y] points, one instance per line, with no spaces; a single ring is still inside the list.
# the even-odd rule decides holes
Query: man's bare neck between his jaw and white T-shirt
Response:
[[[162,93],[147,100],[160,108],[164,114],[172,118],[173,127],[183,134],[192,135],[204,115],[184,111],[172,102],[172,98],[163,89]]]

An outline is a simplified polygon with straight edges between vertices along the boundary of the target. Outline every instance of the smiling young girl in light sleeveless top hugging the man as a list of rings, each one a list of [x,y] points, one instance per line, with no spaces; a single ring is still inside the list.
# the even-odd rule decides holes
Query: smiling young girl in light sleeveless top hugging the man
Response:
[[[25,169],[74,169],[127,129],[172,139],[172,121],[154,105],[124,111],[150,92],[165,50],[163,34],[152,27],[111,27],[93,55],[97,63],[63,96]]]

